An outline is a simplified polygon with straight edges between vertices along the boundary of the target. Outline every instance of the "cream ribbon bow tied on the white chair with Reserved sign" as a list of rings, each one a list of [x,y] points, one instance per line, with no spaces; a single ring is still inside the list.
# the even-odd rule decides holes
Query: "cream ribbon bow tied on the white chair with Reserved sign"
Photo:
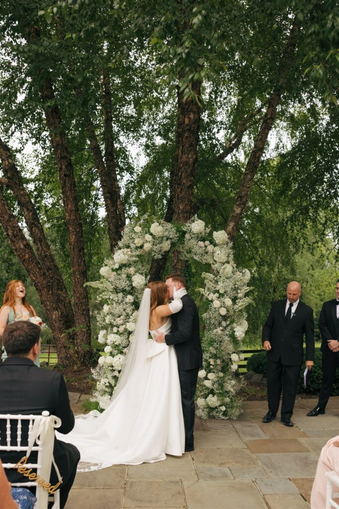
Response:
[[[54,429],[59,428],[61,426],[61,419],[56,417],[55,415],[44,416],[42,419],[36,419],[34,421],[32,432],[30,433],[28,448],[26,457],[29,458],[30,453],[32,452],[32,447],[35,443],[37,445],[43,444],[44,440],[47,438],[47,443],[45,444],[46,454],[51,454],[52,463],[55,468],[55,472],[59,482],[61,482],[62,477],[60,476],[60,472],[53,457],[53,447],[54,447]]]

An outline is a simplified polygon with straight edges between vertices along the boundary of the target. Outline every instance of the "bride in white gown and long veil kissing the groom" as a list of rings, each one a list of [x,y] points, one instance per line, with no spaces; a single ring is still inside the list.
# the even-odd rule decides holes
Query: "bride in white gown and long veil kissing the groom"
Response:
[[[76,417],[68,435],[56,433],[58,439],[79,449],[78,470],[153,463],[165,460],[166,454],[183,454],[185,434],[175,350],[153,340],[156,330],[170,331],[169,317],[182,307],[176,295],[170,304],[167,299],[163,281],[149,283],[109,406],[103,413]]]

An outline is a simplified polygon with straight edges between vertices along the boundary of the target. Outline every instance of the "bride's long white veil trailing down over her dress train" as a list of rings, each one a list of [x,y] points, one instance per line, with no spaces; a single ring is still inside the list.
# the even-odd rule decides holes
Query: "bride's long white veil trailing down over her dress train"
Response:
[[[59,440],[70,442],[80,450],[79,471],[98,470],[120,463],[126,458],[149,371],[149,312],[150,290],[146,288],[124,365],[106,410],[103,413],[93,410],[86,415],[78,415],[74,429],[68,435],[56,433]],[[121,418],[122,413],[124,418]]]

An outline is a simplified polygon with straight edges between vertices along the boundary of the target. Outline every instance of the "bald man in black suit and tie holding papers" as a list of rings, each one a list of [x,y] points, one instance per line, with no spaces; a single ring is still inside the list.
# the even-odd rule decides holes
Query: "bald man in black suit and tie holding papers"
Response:
[[[297,281],[287,287],[287,299],[273,302],[262,331],[262,344],[267,351],[268,412],[263,422],[271,422],[278,412],[283,389],[281,421],[293,426],[291,417],[303,362],[303,335],[306,339],[306,367],[314,363],[313,309],[300,300]]]

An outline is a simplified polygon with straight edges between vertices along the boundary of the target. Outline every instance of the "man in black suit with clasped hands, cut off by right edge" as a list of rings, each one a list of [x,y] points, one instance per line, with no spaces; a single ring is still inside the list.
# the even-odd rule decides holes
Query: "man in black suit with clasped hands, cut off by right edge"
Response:
[[[335,284],[336,298],[323,303],[319,317],[319,329],[322,343],[322,370],[321,384],[317,406],[307,414],[314,417],[325,413],[325,407],[331,395],[335,372],[339,364],[339,279]]]

